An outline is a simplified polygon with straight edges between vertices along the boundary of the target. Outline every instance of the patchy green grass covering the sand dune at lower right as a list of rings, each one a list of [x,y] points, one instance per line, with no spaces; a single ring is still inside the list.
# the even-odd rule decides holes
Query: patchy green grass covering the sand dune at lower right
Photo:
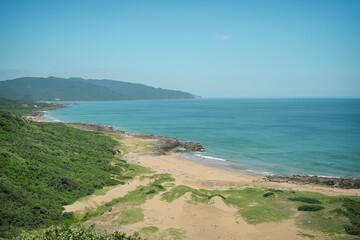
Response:
[[[357,205],[360,201],[359,197],[344,200],[343,198],[326,196],[316,192],[260,188],[210,191],[196,190],[188,186],[176,186],[162,194],[161,199],[172,202],[188,192],[191,193],[190,203],[194,204],[206,204],[209,203],[211,196],[223,196],[223,201],[227,205],[238,208],[239,216],[250,224],[279,222],[294,217],[299,227],[327,234],[346,234],[344,227],[348,226],[351,229],[356,227],[357,214],[360,214],[360,211],[358,211],[359,205]],[[270,197],[264,197],[264,193],[267,192],[273,194]],[[324,209],[318,212],[298,212],[297,208],[303,205],[304,202],[316,202],[318,205],[315,206]],[[297,215],[295,215],[296,212]]]

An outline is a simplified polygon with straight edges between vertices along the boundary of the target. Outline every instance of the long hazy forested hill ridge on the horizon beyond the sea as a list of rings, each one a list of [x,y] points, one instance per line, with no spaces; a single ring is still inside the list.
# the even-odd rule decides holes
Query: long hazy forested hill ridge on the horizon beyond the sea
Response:
[[[110,101],[193,99],[182,91],[154,88],[143,84],[82,78],[24,77],[0,81],[0,97],[35,101]]]

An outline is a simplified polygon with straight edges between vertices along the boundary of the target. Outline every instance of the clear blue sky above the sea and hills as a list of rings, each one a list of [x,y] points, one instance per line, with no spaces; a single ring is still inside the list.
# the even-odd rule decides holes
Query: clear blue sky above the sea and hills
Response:
[[[0,80],[114,79],[204,97],[360,96],[359,0],[0,0]]]

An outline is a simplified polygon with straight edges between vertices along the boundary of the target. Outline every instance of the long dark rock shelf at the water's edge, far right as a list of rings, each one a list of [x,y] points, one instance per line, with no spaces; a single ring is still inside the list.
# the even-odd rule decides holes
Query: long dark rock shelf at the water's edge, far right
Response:
[[[315,184],[327,187],[337,187],[344,189],[360,189],[360,178],[331,178],[318,176],[266,176],[269,182],[287,182],[296,184]]]

